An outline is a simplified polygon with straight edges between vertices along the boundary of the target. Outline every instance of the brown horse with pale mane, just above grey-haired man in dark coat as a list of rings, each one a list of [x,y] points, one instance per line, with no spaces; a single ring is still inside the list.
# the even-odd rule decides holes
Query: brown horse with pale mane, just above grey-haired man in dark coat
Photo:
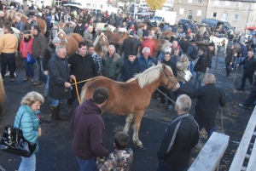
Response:
[[[67,56],[75,53],[79,48],[79,43],[84,41],[84,38],[81,37],[78,33],[66,33],[59,29],[57,37],[61,38],[61,45],[66,46]]]

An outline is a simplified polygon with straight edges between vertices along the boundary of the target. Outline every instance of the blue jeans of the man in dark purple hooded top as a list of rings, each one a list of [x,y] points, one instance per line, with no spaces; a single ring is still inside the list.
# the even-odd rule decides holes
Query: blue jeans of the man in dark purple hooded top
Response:
[[[79,171],[98,171],[95,158],[80,159],[77,157],[77,160],[79,162]]]

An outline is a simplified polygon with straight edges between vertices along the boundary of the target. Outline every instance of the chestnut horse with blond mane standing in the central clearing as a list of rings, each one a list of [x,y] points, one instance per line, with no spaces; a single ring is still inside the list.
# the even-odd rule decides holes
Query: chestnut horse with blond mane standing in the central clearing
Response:
[[[102,112],[108,110],[113,114],[128,115],[123,131],[129,131],[134,117],[133,143],[139,148],[143,148],[143,143],[138,138],[138,132],[145,109],[148,107],[151,95],[160,85],[166,88],[174,88],[177,79],[174,77],[172,69],[165,64],[152,66],[143,73],[137,74],[126,83],[114,82],[107,77],[95,77],[84,84],[80,99],[81,102],[92,98],[96,88],[108,89],[109,98],[102,106]]]

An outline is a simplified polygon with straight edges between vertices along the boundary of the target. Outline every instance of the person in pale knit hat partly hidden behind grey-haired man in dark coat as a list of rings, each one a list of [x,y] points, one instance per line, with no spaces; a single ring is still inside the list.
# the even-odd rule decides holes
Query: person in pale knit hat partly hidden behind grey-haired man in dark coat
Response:
[[[47,76],[47,82],[44,87],[44,97],[47,96],[49,92],[49,74],[48,74],[48,64],[49,60],[55,55],[55,48],[61,44],[61,39],[59,37],[54,37],[49,46],[44,50],[43,58],[43,69],[44,75]],[[61,117],[60,114],[57,115],[61,120],[65,120],[65,117]]]

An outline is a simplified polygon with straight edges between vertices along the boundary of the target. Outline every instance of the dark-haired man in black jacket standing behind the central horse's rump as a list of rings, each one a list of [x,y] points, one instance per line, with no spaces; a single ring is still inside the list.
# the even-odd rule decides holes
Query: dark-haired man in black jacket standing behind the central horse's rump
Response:
[[[96,68],[96,63],[92,59],[91,55],[87,53],[86,43],[84,42],[79,43],[79,49],[68,58],[67,62],[70,65],[70,77],[73,77],[73,79],[75,78],[77,82],[99,76]],[[79,94],[81,93],[81,89],[83,86],[84,83],[77,84]],[[75,86],[73,86],[71,93],[72,98],[67,100],[68,113],[72,111],[71,107],[73,105],[73,102],[78,98]]]

